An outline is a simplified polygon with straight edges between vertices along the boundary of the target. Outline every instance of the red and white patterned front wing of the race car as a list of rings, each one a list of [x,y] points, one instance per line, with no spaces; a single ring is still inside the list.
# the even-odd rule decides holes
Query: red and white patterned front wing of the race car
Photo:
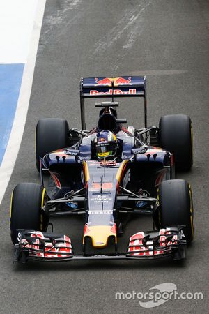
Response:
[[[28,260],[153,260],[171,257],[183,260],[186,252],[185,226],[168,227],[158,231],[137,232],[130,237],[127,252],[111,255],[74,255],[71,240],[66,235],[34,230],[19,230],[14,262]]]

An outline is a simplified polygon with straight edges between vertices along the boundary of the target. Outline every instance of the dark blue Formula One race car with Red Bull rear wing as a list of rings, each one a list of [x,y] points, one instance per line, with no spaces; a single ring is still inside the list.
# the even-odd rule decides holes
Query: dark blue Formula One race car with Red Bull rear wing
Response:
[[[111,101],[95,103],[98,126],[86,130],[84,99],[104,97]],[[144,128],[122,126],[127,121],[117,117],[119,97],[144,98]],[[177,170],[192,167],[190,118],[167,115],[159,127],[148,127],[146,77],[82,78],[80,106],[82,130],[69,130],[64,119],[38,121],[41,184],[18,184],[10,204],[15,261],[184,259],[194,239],[192,192],[185,180],[174,179],[174,164]],[[80,255],[70,237],[47,232],[50,217],[72,214],[84,216]],[[153,230],[133,234],[122,254],[117,244],[126,214],[150,214]]]

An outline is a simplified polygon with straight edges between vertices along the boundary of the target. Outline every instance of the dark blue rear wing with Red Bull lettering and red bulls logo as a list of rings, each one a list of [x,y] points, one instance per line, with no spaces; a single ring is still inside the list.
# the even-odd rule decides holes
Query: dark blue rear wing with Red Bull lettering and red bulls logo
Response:
[[[80,80],[80,107],[82,130],[86,130],[84,99],[85,98],[111,98],[115,97],[143,97],[144,98],[144,124],[147,128],[146,108],[146,77],[87,77]]]

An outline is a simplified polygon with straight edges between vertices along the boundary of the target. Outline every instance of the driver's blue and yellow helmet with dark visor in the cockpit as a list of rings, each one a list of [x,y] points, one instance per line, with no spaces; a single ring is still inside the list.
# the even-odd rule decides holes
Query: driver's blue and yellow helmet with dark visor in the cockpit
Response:
[[[116,135],[109,130],[103,130],[95,136],[95,154],[98,159],[115,156],[117,152]]]

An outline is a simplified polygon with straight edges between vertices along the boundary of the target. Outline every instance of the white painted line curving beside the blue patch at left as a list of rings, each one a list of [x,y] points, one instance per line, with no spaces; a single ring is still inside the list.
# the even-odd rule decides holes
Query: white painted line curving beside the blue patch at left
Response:
[[[11,130],[10,139],[8,141],[6,152],[3,156],[0,167],[0,204],[8,186],[11,174],[13,173],[13,168],[15,166],[15,161],[17,159],[17,154],[22,141],[22,135],[24,132],[24,125],[26,122],[26,115],[28,112],[29,100],[31,96],[33,73],[36,64],[36,54],[38,50],[38,42],[42,25],[42,17],[45,10],[45,3],[46,0],[38,0],[37,3],[36,17],[34,19],[31,43],[29,45],[29,54],[24,66],[20,95],[17,102],[15,119],[13,121],[13,128]]]

